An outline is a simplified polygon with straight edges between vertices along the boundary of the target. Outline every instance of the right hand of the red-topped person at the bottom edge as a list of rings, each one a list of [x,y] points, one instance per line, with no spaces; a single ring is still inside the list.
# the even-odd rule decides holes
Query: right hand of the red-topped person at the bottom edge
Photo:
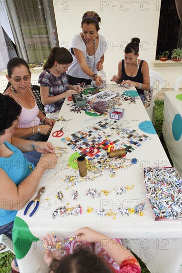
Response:
[[[95,230],[91,229],[90,227],[83,227],[80,228],[76,231],[75,236],[76,235],[80,235],[83,234],[81,236],[79,236],[76,240],[77,241],[85,241],[85,242],[100,242],[100,233],[96,232]]]

